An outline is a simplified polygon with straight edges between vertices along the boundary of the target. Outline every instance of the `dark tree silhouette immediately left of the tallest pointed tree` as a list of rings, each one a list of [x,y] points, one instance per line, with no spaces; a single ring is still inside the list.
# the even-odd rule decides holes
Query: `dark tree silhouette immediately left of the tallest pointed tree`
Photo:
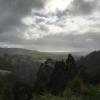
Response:
[[[51,92],[55,95],[61,94],[65,88],[66,79],[65,62],[63,60],[57,61],[50,81]]]

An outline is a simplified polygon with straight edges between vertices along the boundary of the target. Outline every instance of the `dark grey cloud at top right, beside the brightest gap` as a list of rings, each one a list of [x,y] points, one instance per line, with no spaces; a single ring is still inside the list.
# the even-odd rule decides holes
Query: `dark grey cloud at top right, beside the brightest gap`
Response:
[[[67,8],[64,11],[57,11],[56,16],[58,18],[62,18],[63,16],[83,16],[83,15],[90,15],[94,11],[97,10],[98,0],[73,0],[71,3],[71,8]],[[99,8],[100,9],[100,8]]]

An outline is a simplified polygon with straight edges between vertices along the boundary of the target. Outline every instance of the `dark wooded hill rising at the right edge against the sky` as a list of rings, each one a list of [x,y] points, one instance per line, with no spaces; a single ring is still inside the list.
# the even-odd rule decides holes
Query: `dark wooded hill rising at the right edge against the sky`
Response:
[[[80,64],[85,67],[84,70],[88,77],[99,78],[100,76],[100,51],[94,51],[83,57]]]

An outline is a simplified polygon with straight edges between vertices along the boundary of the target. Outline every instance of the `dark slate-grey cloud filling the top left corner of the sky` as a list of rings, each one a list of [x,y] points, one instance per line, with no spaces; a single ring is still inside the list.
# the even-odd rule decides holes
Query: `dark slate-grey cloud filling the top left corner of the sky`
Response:
[[[21,18],[30,14],[31,9],[43,8],[45,0],[0,0],[0,33],[9,27],[22,25]]]

